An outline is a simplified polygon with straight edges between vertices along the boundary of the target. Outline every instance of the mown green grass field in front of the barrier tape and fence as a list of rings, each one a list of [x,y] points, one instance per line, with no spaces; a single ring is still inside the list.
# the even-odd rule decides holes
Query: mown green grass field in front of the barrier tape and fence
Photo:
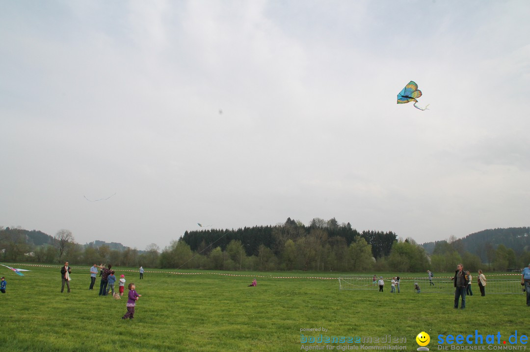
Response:
[[[439,334],[529,335],[523,294],[467,297],[466,309],[453,309],[450,294],[415,294],[410,283],[400,294],[340,291],[338,280],[273,279],[253,275],[324,276],[322,273],[245,273],[177,275],[150,273],[138,280],[136,270],[116,269],[135,282],[142,297],[135,319],[122,320],[124,299],[99,297],[98,276],[90,291],[89,268],[75,267],[72,292],[60,293],[60,266],[20,268],[24,277],[2,267],[7,293],[0,294],[0,350],[6,351],[297,351],[302,346],[328,345],[334,350],[360,344],[301,344],[303,328],[323,327],[327,336],[406,338],[416,350],[416,336],[426,331],[430,350]],[[158,270],[160,271],[160,270]],[[186,272],[186,271],[183,271]],[[188,271],[198,272],[198,271]],[[226,274],[226,272],[219,272]],[[418,274],[425,276],[424,274]],[[339,274],[328,273],[337,277]],[[385,275],[388,277],[390,275]],[[403,276],[413,276],[403,275]],[[116,285],[116,288],[118,285]],[[98,290],[96,290],[98,289]],[[477,294],[479,293],[479,294]],[[501,342],[502,344],[502,342]],[[376,343],[365,345],[378,345]],[[379,344],[384,345],[384,344]],[[523,346],[523,345],[518,345]],[[491,347],[491,346],[490,346]]]

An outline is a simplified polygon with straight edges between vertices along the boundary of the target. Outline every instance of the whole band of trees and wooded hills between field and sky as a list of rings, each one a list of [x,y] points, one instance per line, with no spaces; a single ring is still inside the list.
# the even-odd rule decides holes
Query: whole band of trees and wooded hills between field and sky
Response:
[[[287,218],[273,226],[186,231],[160,250],[145,251],[119,243],[75,242],[61,229],[55,236],[41,231],[0,228],[0,260],[4,262],[113,265],[215,270],[311,270],[340,272],[451,272],[456,263],[467,270],[506,271],[530,261],[529,228],[484,230],[465,238],[418,245],[392,231],[352,228],[335,218],[310,224]],[[513,247],[512,247],[513,246]]]

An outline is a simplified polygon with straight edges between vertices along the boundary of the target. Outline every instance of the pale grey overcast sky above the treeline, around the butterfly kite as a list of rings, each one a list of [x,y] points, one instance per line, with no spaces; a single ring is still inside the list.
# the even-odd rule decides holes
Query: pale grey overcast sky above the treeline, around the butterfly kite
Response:
[[[2,0],[0,226],[138,249],[198,222],[335,217],[419,243],[530,226],[528,18],[526,0]],[[430,110],[396,104],[410,80]]]

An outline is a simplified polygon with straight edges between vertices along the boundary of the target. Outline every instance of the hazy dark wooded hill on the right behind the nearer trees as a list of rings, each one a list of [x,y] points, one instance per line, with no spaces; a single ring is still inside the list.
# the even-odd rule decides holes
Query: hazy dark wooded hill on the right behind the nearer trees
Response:
[[[530,227],[509,227],[488,229],[461,238],[463,249],[478,255],[482,261],[487,260],[486,244],[497,248],[500,244],[511,248],[519,255],[523,251],[530,251]],[[427,253],[432,254],[436,242],[422,244]]]

